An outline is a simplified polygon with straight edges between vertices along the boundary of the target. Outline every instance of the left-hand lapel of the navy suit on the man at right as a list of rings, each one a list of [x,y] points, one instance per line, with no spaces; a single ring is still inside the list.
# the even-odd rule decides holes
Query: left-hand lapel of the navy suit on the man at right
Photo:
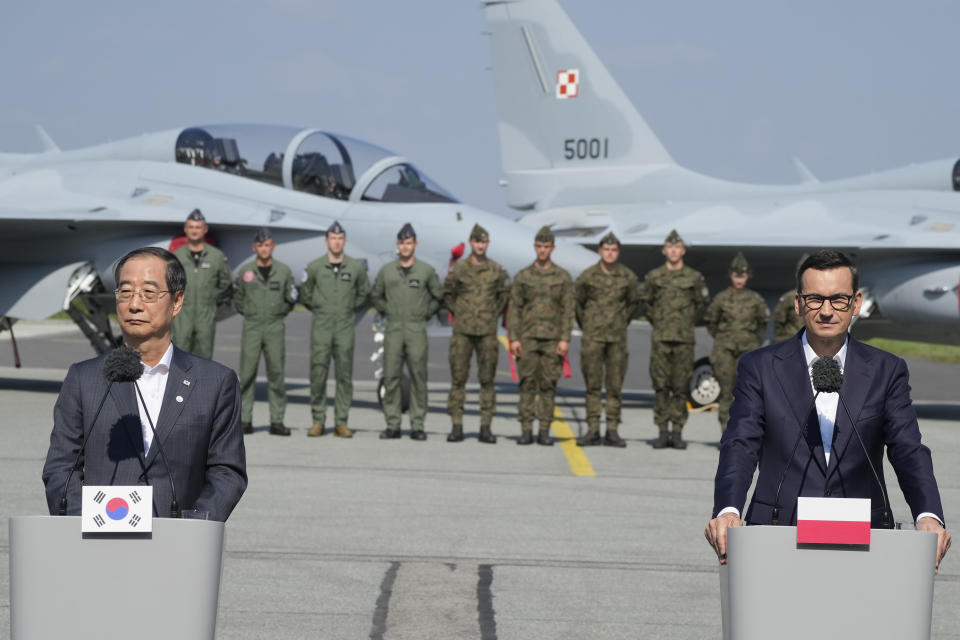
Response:
[[[820,438],[820,423],[817,420],[816,408],[813,407],[813,389],[810,386],[810,373],[807,368],[807,359],[803,355],[803,343],[797,337],[787,340],[777,350],[773,363],[774,375],[780,383],[780,389],[790,404],[790,410],[795,422],[789,425],[789,433],[795,433],[793,428],[804,425],[807,447],[820,472],[826,474],[827,460],[823,453],[823,442]],[[804,414],[806,412],[806,414]],[[794,436],[796,437],[796,436]],[[790,439],[791,444],[793,438]]]

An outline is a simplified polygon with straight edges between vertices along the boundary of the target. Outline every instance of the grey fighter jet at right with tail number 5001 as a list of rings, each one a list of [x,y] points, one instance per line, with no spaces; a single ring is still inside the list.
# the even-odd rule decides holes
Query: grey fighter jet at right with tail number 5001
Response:
[[[508,204],[593,247],[607,231],[641,276],[676,228],[714,293],[743,251],[772,304],[798,258],[831,247],[861,268],[863,335],[960,342],[956,158],[796,185],[727,182],[673,161],[555,0],[487,0]],[[869,317],[866,322],[864,318]]]

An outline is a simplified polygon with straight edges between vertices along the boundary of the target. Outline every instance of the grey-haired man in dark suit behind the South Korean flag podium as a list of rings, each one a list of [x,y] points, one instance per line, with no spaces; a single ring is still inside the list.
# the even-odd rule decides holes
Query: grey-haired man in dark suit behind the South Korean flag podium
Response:
[[[58,510],[64,483],[89,433],[80,477],[70,483],[67,513],[80,513],[81,484],[149,484],[154,515],[169,516],[170,483],[152,421],[180,508],[225,521],[247,486],[237,376],[171,342],[186,285],[176,256],[156,247],[136,249],[117,263],[115,275],[123,341],[140,352],[144,373],[136,383],[115,382],[108,391],[103,356],[70,367],[54,407],[43,467],[50,513]]]

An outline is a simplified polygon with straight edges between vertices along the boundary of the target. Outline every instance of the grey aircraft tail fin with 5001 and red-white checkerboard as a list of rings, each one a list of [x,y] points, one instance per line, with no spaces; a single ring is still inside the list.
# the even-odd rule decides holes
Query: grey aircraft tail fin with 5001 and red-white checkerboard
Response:
[[[485,0],[508,174],[673,160],[555,0]]]

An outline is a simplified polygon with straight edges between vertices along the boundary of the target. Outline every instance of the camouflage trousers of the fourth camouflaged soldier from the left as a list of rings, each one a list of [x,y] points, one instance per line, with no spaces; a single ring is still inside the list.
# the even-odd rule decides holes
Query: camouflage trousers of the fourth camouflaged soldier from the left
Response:
[[[653,401],[653,422],[674,431],[687,423],[687,395],[693,376],[693,343],[661,342],[650,345],[650,380],[656,394]]]

